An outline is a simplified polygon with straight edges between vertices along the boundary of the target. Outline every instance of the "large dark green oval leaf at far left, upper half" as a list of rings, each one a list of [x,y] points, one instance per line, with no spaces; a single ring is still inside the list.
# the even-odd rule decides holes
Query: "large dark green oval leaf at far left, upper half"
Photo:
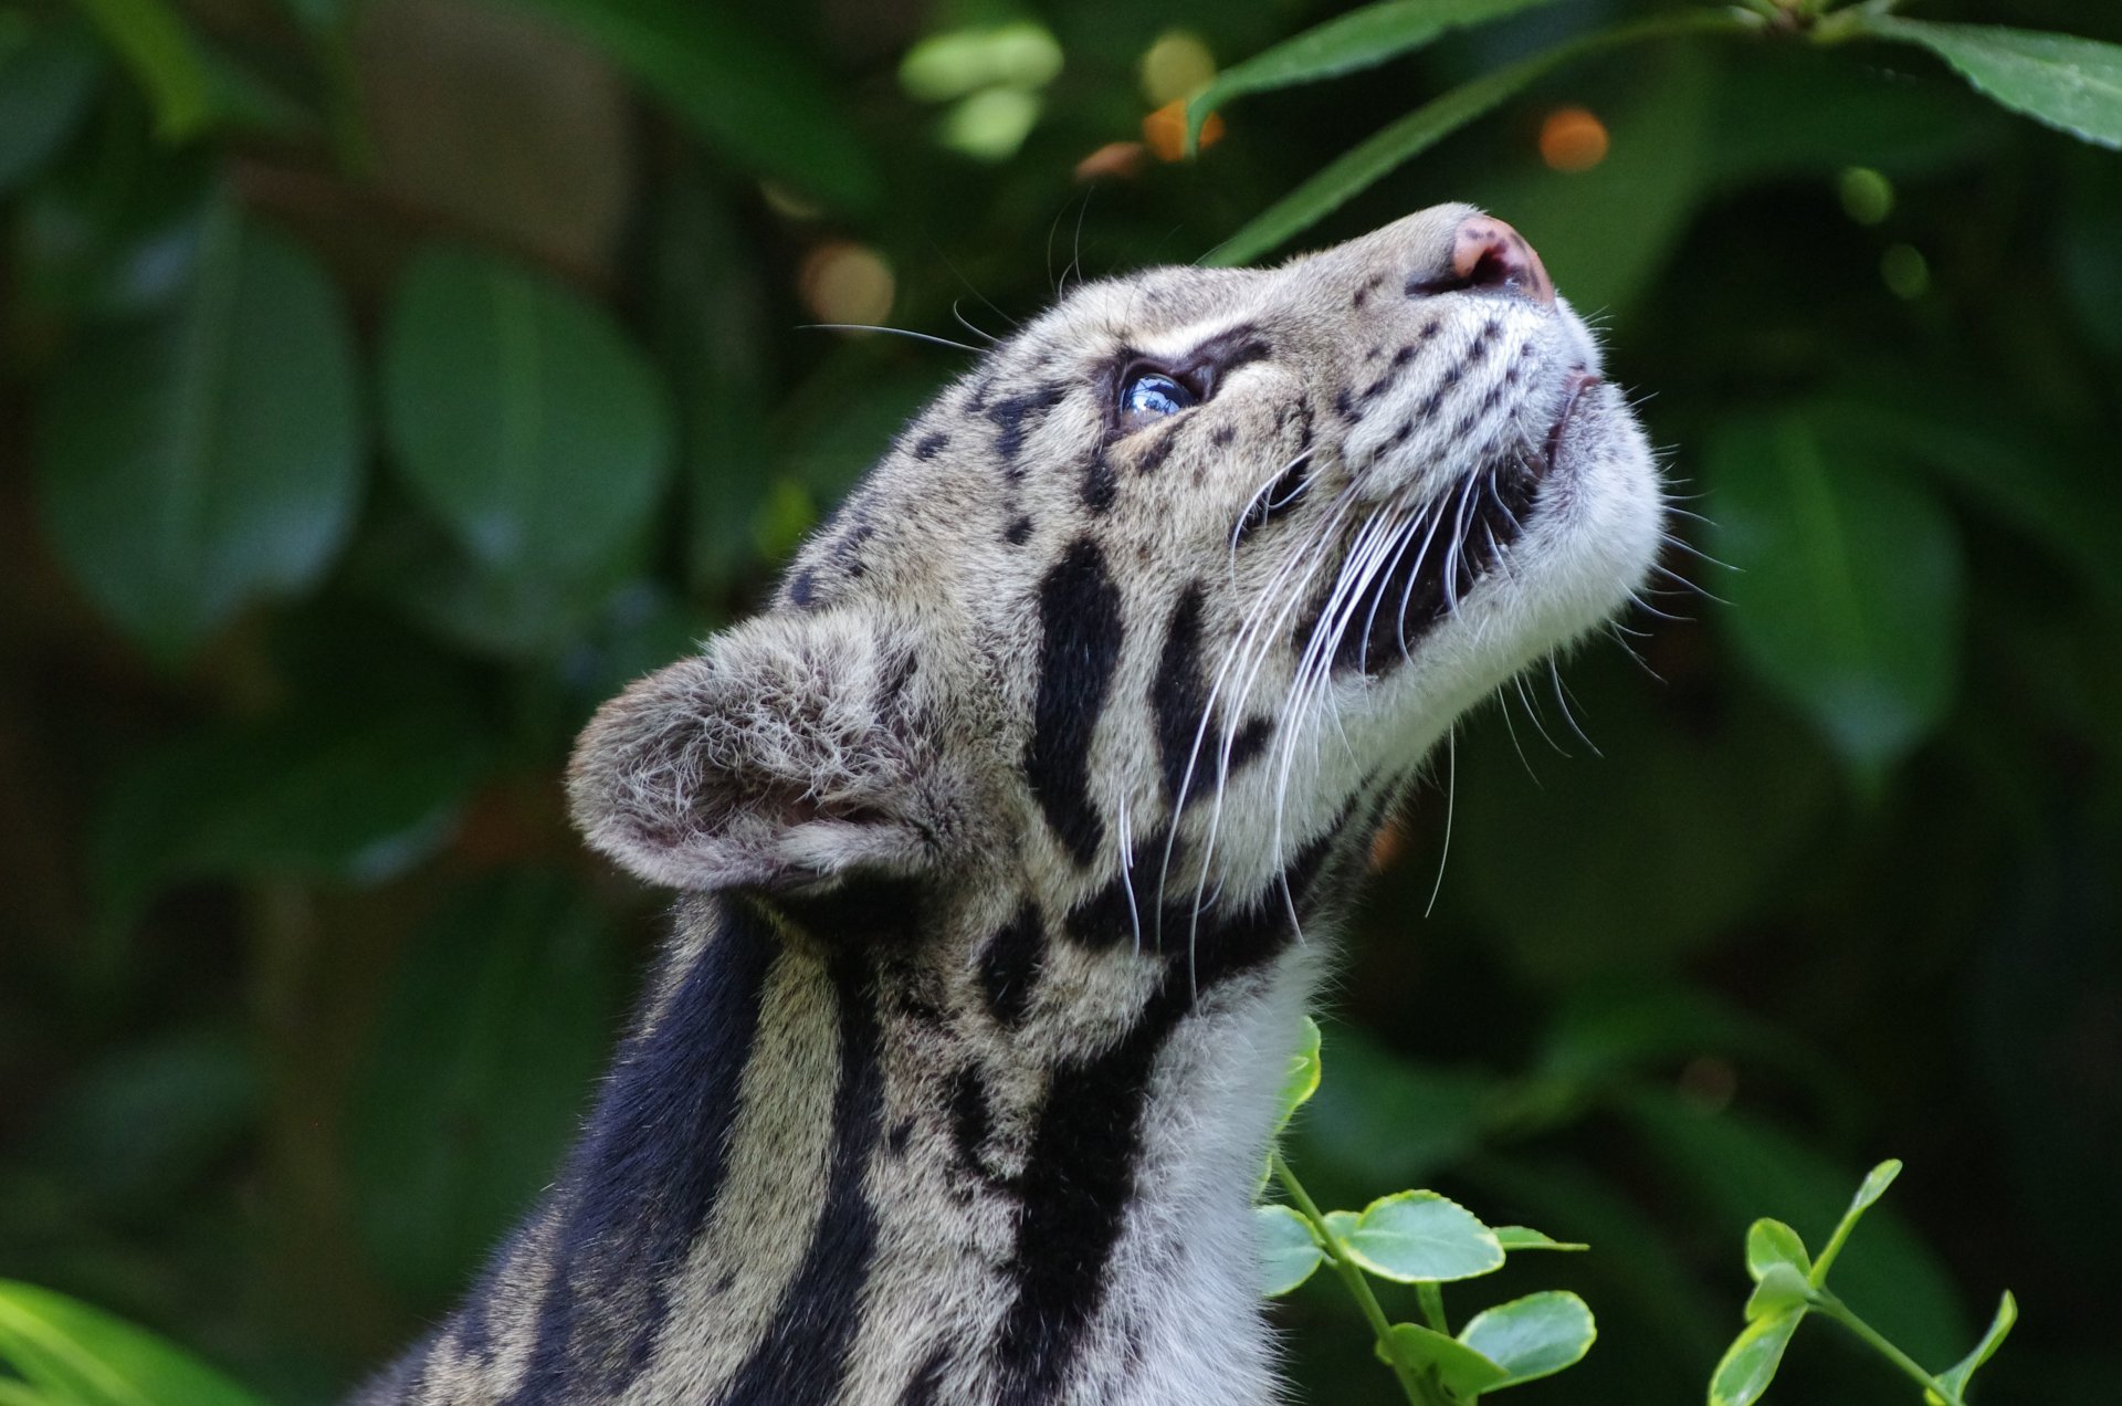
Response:
[[[182,310],[62,363],[40,431],[59,559],[138,644],[180,658],[246,603],[314,582],[352,525],[365,435],[337,293],[223,206]]]

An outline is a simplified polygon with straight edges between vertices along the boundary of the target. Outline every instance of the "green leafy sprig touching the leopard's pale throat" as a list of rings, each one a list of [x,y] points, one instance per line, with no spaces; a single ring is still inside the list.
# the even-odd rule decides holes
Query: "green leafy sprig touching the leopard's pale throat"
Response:
[[[1282,1085],[1275,1136],[1320,1083],[1320,1028],[1305,1019],[1305,1039],[1290,1058]],[[1437,1191],[1396,1191],[1362,1211],[1320,1211],[1282,1160],[1267,1158],[1269,1181],[1288,1204],[1254,1208],[1260,1232],[1260,1291],[1282,1296],[1333,1266],[1377,1338],[1379,1359],[1392,1368],[1411,1406],[1458,1406],[1488,1391],[1551,1376],[1592,1351],[1598,1325],[1581,1298],[1562,1289],[1528,1293],[1473,1315],[1458,1334],[1445,1317],[1443,1285],[1479,1279],[1502,1268],[1511,1251],[1577,1251],[1528,1225],[1483,1225],[1471,1211]],[[1415,1285],[1422,1323],[1386,1317],[1369,1276]]]

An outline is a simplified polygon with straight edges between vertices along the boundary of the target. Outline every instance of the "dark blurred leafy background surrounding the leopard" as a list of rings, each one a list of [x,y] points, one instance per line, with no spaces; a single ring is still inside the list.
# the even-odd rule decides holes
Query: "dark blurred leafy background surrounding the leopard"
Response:
[[[806,325],[978,342],[1674,8],[1532,6],[1167,161],[1199,51],[1330,6],[0,4],[0,1276],[269,1400],[382,1361],[543,1185],[662,922],[564,826],[573,731],[968,363]],[[2122,40],[2107,0],[1918,13]],[[1562,108],[1589,170],[1541,157]],[[1695,38],[1534,81],[1301,242],[1437,200],[1606,331],[1700,590],[1462,728],[1292,1162],[1589,1240],[1496,1287],[1600,1315],[1526,1400],[1683,1402],[1746,1221],[1816,1238],[1899,1155],[1842,1296],[1944,1364],[2012,1287],[1995,1400],[2101,1400],[2122,159],[1914,47]],[[1309,1400],[1392,1400],[1330,1285],[1282,1313]],[[1906,1395],[1827,1332],[1776,1393]]]

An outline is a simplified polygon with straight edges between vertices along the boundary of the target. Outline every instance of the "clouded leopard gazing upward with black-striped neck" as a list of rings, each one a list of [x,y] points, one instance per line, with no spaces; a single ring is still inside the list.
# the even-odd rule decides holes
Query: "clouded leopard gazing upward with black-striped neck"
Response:
[[[1248,1204],[1379,818],[1662,493],[1509,225],[1072,291],[605,705],[679,892],[579,1145],[363,1402],[1275,1400]]]

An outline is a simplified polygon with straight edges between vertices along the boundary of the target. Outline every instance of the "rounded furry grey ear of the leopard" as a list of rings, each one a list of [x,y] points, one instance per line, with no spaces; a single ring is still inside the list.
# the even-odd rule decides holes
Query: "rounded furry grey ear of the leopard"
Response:
[[[590,847],[668,888],[819,888],[938,862],[951,796],[910,637],[777,614],[634,682],[575,743]]]

